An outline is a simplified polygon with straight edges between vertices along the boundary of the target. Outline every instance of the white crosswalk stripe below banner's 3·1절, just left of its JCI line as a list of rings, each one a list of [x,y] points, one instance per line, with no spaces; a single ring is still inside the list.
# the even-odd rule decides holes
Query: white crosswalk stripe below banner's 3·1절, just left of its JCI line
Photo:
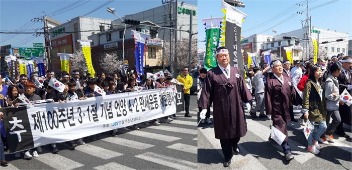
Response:
[[[123,155],[122,153],[114,152],[91,144],[79,145],[75,149],[93,156],[100,157],[102,159],[110,159]]]

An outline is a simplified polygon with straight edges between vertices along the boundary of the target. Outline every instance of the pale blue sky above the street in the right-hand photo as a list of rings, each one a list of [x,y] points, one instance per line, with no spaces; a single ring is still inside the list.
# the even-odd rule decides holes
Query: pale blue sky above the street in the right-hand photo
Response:
[[[248,37],[253,34],[264,34],[276,36],[272,32],[275,29],[278,34],[286,33],[302,28],[301,20],[306,19],[306,1],[302,0],[241,0],[245,8],[237,8],[247,15],[242,23],[241,36]],[[331,2],[330,4],[327,4]],[[296,6],[297,3],[304,3],[304,7]],[[327,4],[319,7],[321,4]],[[313,7],[315,9],[313,9]],[[319,7],[319,8],[318,8]],[[312,26],[321,29],[337,30],[337,32],[348,33],[352,36],[352,1],[350,0],[309,0],[309,15],[312,17]],[[296,12],[303,12],[291,20],[285,20]],[[271,23],[259,25],[273,17],[280,15],[277,20],[270,20]],[[224,17],[221,12],[220,0],[198,1],[198,48],[205,49],[205,26],[201,19]],[[283,22],[286,21],[286,22]],[[280,24],[282,23],[282,24]],[[277,26],[276,26],[277,25]],[[273,27],[273,28],[272,28]],[[255,29],[250,29],[255,28]],[[250,29],[250,30],[248,30]],[[269,30],[268,30],[269,29]],[[268,30],[268,31],[266,31]],[[352,40],[352,37],[349,37]]]

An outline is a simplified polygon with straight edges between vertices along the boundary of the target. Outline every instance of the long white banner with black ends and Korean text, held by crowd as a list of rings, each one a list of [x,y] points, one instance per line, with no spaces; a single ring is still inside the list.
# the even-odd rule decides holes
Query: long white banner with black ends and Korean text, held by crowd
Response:
[[[2,108],[11,152],[131,126],[184,110],[182,86]]]

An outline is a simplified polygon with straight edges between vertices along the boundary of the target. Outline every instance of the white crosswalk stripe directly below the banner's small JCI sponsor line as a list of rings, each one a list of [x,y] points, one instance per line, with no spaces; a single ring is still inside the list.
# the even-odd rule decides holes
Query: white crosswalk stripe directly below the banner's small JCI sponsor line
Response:
[[[104,141],[107,141],[110,143],[115,143],[115,144],[122,145],[122,146],[132,147],[135,149],[141,149],[141,150],[155,146],[152,144],[142,143],[142,142],[138,142],[138,141],[134,141],[134,140],[128,140],[128,139],[124,139],[121,137],[107,137],[107,138],[103,138],[101,140],[104,140]]]

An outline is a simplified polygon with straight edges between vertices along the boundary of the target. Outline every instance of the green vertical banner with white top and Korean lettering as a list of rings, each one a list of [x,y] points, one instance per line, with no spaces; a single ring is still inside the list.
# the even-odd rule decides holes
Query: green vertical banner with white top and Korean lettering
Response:
[[[215,56],[215,50],[219,46],[220,40],[220,25],[222,22],[222,17],[202,19],[205,25],[205,37],[206,37],[206,48],[205,48],[205,58],[204,58],[204,68],[210,70],[218,65]]]

